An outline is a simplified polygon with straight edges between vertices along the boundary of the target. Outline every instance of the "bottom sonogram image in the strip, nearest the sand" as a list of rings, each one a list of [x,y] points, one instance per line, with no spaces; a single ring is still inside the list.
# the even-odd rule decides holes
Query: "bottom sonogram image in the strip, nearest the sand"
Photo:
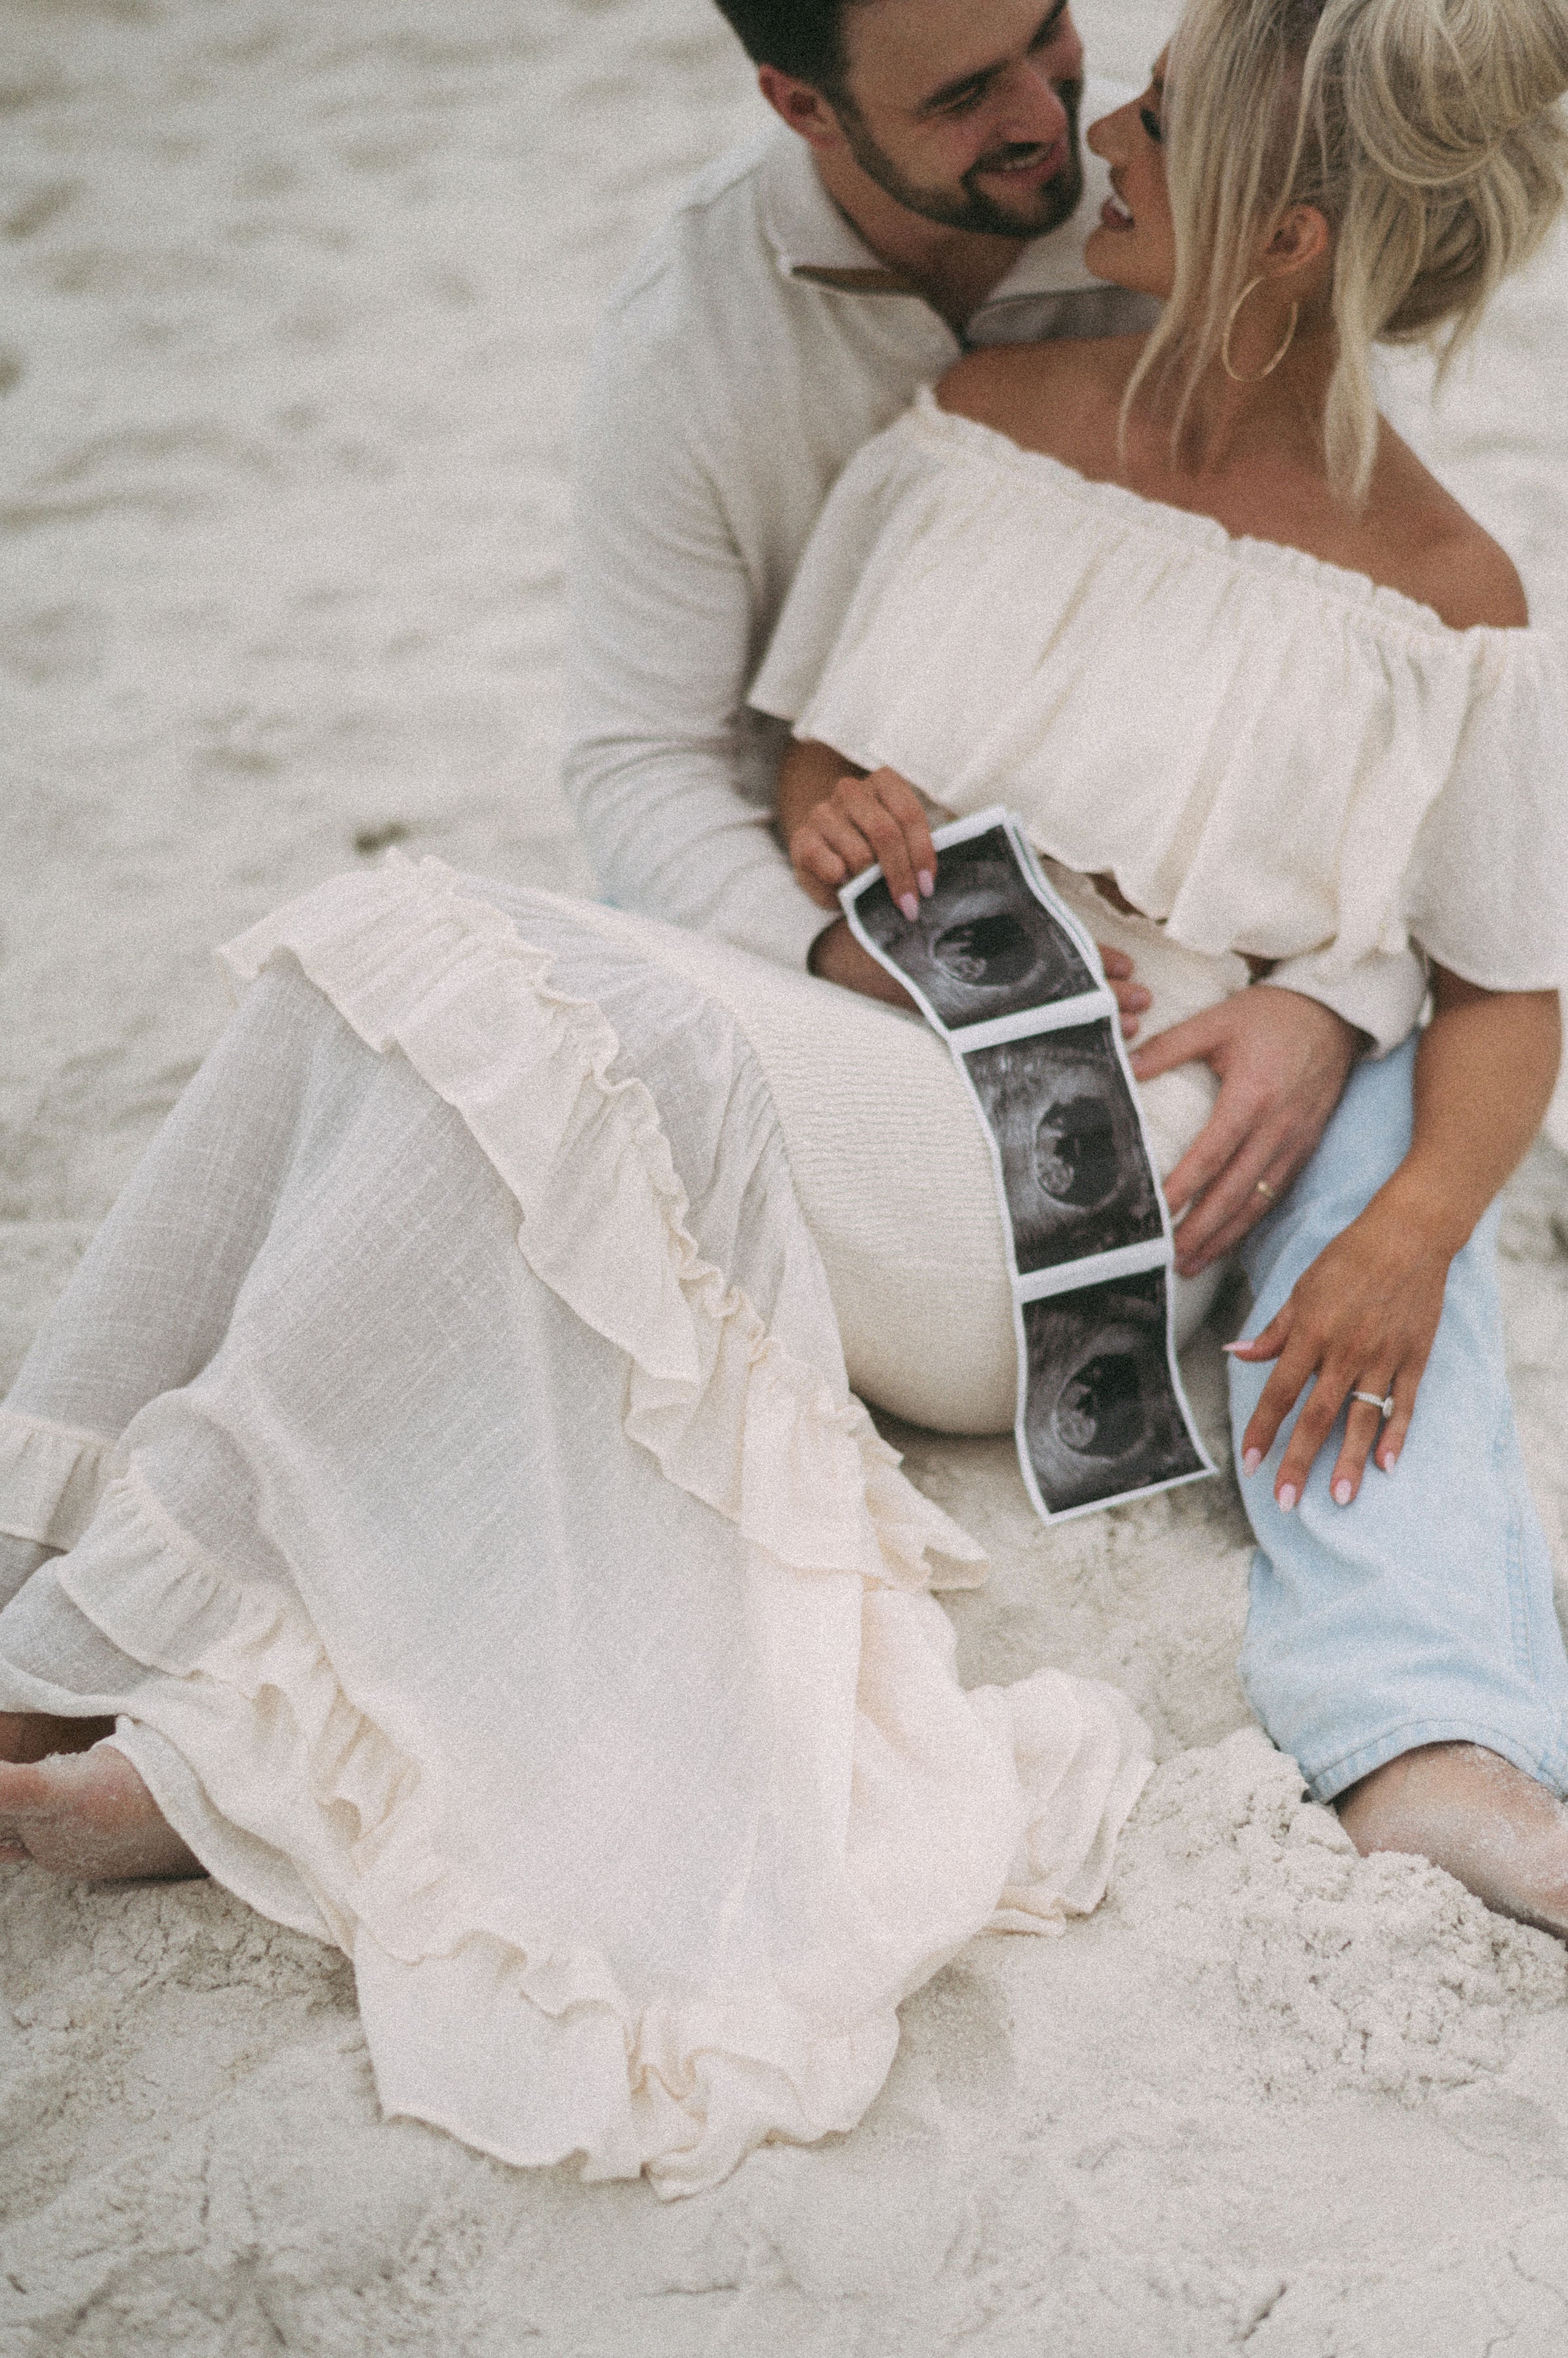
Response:
[[[1165,1271],[1023,1304],[1023,1436],[1049,1514],[1205,1474],[1172,1382]]]

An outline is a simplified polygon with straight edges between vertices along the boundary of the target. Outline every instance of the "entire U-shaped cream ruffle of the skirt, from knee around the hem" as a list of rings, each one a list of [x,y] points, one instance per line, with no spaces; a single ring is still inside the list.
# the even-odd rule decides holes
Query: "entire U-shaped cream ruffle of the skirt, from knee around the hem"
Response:
[[[28,1707],[120,1714],[210,1872],[337,1941],[387,2110],[509,2162],[693,2193],[766,2139],[849,2129],[898,2002],[993,1917],[1049,1929],[1099,1901],[1144,1728],[1115,1691],[1054,1672],[960,1691],[924,1556],[979,1549],[898,1474],[842,1363],[785,1349],[700,1257],[653,1099],[613,1078],[601,1009],[554,993],[505,915],[398,863],[297,903],[229,964],[278,953],[457,1111],[531,1269],[625,1353],[627,1436],[747,1542],[806,1915],[745,1971],[627,1988],[641,1967],[618,1967],[601,1912],[540,1922],[538,1893],[455,1856],[460,1764],[417,1714],[377,1717],[380,1688],[340,1674],[292,1582],[238,1578],[174,1521],[134,1434],[78,1544],[35,1575],[118,1653],[97,1672],[116,1691]],[[790,1667],[769,1648],[795,1629],[813,1641]],[[0,1662],[0,1698],[21,1679]]]

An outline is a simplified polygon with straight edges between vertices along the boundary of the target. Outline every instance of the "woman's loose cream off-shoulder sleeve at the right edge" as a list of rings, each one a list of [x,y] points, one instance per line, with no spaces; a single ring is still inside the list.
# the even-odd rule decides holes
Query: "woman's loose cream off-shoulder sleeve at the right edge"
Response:
[[[1500,630],[1405,868],[1429,957],[1483,990],[1568,979],[1568,679],[1544,632]]]

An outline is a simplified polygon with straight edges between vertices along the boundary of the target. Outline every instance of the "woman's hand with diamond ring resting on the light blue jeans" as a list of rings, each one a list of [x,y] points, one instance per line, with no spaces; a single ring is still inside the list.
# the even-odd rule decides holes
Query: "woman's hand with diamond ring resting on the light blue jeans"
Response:
[[[1450,1259],[1452,1250],[1412,1219],[1389,1186],[1302,1271],[1283,1311],[1254,1342],[1226,1344],[1236,1358],[1273,1361],[1243,1434],[1243,1474],[1259,1469],[1311,1382],[1273,1478],[1273,1495],[1287,1514],[1353,1391],[1379,1401],[1391,1394],[1394,1415],[1384,1424],[1382,1408],[1351,1401],[1330,1481],[1335,1502],[1351,1504],[1370,1455],[1384,1474],[1394,1471],[1443,1316]]]

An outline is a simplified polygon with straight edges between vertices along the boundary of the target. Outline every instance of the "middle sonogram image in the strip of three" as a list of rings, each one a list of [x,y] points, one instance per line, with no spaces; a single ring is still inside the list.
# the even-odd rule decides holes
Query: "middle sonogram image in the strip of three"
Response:
[[[974,1049],[964,1071],[1002,1155],[1021,1276],[1165,1233],[1108,1021]]]

